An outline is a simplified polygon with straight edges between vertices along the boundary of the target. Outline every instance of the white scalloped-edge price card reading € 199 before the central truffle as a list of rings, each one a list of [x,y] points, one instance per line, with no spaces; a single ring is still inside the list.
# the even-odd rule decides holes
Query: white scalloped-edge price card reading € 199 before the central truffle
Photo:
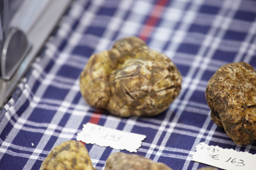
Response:
[[[76,140],[87,144],[97,144],[99,146],[112,147],[114,149],[137,152],[145,135],[124,132],[111,129],[93,123],[83,125],[83,129],[77,134]]]

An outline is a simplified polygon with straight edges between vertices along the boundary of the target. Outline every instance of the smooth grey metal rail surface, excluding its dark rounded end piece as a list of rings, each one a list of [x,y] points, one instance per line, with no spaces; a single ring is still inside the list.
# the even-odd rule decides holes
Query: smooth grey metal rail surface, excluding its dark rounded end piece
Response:
[[[26,34],[27,40],[32,45],[32,48],[29,53],[24,57],[23,62],[17,68],[17,71],[13,75],[12,79],[10,79],[9,81],[0,79],[1,108],[12,95],[12,92],[16,88],[17,83],[20,81],[21,77],[23,77],[26,70],[29,68],[29,65],[32,62],[33,58],[41,50],[44,42],[47,40],[53,28],[55,28],[61,16],[64,14],[72,0],[39,0],[41,1],[41,5],[44,6],[44,8],[40,8],[42,10],[41,14],[38,14],[37,12],[37,15],[33,16],[33,10],[36,10],[36,3],[34,6],[35,8],[30,8],[29,10],[27,8],[28,4],[26,3],[33,3],[35,1],[38,0],[26,0],[26,2],[23,3],[23,5],[15,14],[22,15],[23,13],[23,16],[27,16],[28,18],[24,17],[24,20],[17,20],[10,23],[10,26],[19,27]],[[29,17],[31,16],[31,14],[32,17]],[[34,23],[26,23],[26,21],[29,20],[33,20]]]

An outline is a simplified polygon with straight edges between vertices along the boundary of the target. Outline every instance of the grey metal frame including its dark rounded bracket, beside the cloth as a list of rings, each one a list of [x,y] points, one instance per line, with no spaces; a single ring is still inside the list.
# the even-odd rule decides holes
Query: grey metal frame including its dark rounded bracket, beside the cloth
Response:
[[[0,10],[6,8],[3,5],[6,1],[8,0],[2,1]],[[3,77],[0,79],[0,108],[8,101],[17,83],[20,82],[33,58],[41,50],[71,2],[72,0],[23,0],[12,20],[8,21],[10,29],[7,35],[4,33],[6,25],[0,25],[2,45],[0,70]],[[3,21],[2,14],[3,12],[0,11],[0,20]],[[3,41],[1,41],[1,29]],[[0,115],[0,118],[2,116]]]

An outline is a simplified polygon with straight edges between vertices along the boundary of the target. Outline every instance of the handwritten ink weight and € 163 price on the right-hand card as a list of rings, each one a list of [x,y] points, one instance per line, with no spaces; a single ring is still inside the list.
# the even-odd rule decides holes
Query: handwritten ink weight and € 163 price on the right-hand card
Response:
[[[219,152],[219,149],[217,149],[216,147],[212,147],[212,146],[205,146],[203,144],[201,145],[201,150],[209,150],[210,152],[212,152],[212,154],[209,154],[209,157],[214,159],[214,160],[221,160],[227,163],[231,163],[234,164],[235,166],[245,166],[244,160],[239,159],[239,158],[235,158],[235,157],[228,157],[227,155],[221,155]],[[226,157],[228,157],[227,159],[225,159]]]

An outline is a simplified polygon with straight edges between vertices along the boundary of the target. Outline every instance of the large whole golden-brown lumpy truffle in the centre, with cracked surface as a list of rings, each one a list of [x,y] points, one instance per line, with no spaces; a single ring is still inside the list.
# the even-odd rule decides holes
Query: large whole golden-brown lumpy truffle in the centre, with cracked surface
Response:
[[[180,93],[175,64],[137,37],[116,41],[109,51],[90,57],[80,76],[86,102],[118,116],[154,116]]]

